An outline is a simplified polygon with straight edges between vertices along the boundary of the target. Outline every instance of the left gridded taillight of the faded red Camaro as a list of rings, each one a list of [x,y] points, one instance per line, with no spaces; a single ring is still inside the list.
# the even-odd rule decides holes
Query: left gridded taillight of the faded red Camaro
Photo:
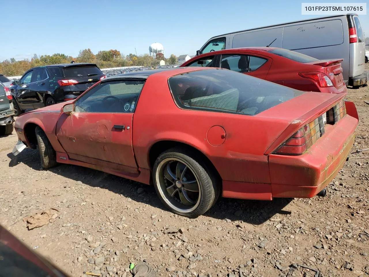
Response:
[[[323,116],[305,125],[293,134],[285,143],[277,148],[273,154],[301,155],[324,134]]]

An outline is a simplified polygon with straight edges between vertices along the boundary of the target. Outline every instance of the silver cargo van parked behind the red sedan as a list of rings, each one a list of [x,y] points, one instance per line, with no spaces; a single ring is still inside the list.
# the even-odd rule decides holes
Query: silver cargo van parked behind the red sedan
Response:
[[[222,49],[271,46],[317,59],[344,59],[346,85],[366,84],[364,34],[357,14],[271,25],[210,38],[196,55]]]

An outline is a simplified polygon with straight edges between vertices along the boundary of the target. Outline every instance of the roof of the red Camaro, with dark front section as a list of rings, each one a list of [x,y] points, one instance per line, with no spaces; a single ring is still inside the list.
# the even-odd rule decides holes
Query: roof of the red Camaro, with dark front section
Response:
[[[101,82],[106,82],[106,81],[114,80],[114,79],[126,79],[126,78],[147,79],[151,75],[160,74],[160,73],[168,73],[166,75],[168,75],[168,77],[169,77],[169,76],[173,76],[173,75],[177,75],[177,74],[181,74],[181,73],[185,73],[185,72],[189,72],[189,71],[205,70],[205,69],[211,69],[211,67],[207,67],[207,68],[206,67],[203,67],[203,68],[198,68],[198,67],[173,67],[173,68],[148,69],[148,70],[134,71],[134,72],[129,72],[129,73],[122,73],[122,74],[113,75],[113,76],[110,76],[108,78],[103,79]]]

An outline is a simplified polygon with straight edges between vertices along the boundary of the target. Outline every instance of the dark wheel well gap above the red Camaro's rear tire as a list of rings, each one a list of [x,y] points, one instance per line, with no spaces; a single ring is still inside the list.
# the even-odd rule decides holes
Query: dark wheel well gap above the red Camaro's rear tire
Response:
[[[150,166],[150,169],[152,170],[152,168],[154,167],[154,163],[155,163],[156,159],[159,157],[159,155],[161,153],[163,153],[164,151],[166,151],[170,148],[174,148],[174,147],[185,148],[185,149],[188,149],[189,151],[193,152],[197,157],[201,158],[201,160],[205,163],[206,167],[209,170],[213,171],[214,174],[216,175],[216,177],[218,178],[218,180],[221,182],[222,178],[220,177],[220,174],[219,174],[218,170],[215,168],[213,163],[209,160],[208,157],[206,157],[206,155],[204,153],[202,153],[201,151],[199,151],[197,148],[195,148],[193,146],[190,146],[186,143],[181,143],[181,142],[178,142],[178,141],[162,140],[162,141],[158,141],[157,143],[155,143],[150,148],[150,152],[149,152],[149,166]]]

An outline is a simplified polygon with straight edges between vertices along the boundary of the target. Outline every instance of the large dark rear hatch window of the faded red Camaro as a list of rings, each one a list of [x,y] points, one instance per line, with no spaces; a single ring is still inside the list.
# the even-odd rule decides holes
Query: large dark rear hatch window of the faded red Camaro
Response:
[[[168,80],[182,109],[255,115],[305,92],[225,69],[204,69]]]

